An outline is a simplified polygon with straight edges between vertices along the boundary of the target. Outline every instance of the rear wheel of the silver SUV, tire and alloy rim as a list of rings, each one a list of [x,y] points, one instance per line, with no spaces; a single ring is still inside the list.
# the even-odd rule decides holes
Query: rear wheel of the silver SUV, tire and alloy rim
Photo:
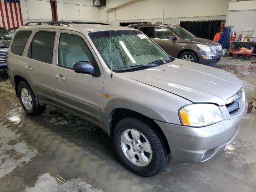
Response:
[[[45,111],[46,106],[40,106],[32,89],[24,81],[20,82],[18,85],[18,96],[20,104],[26,114],[30,116],[38,116]]]

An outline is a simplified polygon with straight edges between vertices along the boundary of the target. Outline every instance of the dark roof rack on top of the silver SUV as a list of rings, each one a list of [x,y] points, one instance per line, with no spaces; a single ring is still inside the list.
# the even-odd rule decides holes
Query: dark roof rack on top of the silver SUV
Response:
[[[59,26],[69,26],[69,24],[100,24],[100,25],[110,25],[106,23],[99,23],[99,22],[80,22],[80,21],[30,21],[25,24],[25,26],[28,26],[30,24],[35,25],[42,25],[42,24],[48,24],[48,25],[59,25]]]

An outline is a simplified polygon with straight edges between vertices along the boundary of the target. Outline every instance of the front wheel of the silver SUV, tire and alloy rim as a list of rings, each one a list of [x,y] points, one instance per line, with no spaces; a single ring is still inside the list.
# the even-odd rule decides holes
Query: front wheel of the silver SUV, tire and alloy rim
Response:
[[[132,138],[132,133],[134,134],[136,131],[141,135],[140,139],[137,139],[137,143]],[[125,135],[126,138],[132,139],[131,141],[124,139],[129,145],[123,143],[123,136]],[[161,136],[155,131],[154,126],[147,120],[140,120],[133,117],[121,119],[114,128],[113,140],[116,153],[121,162],[126,168],[140,176],[150,177],[158,174],[170,160],[170,154],[167,154]],[[150,151],[148,150],[148,146],[151,149],[151,153],[145,151]],[[125,153],[123,148],[127,148],[127,153]],[[134,149],[135,152],[134,150],[132,152],[132,149]],[[128,157],[128,154],[130,154],[129,152],[133,153],[133,159]],[[141,155],[141,161],[139,160],[138,155]],[[144,158],[147,156],[146,158],[148,159],[148,162],[142,160],[142,156],[144,156]]]

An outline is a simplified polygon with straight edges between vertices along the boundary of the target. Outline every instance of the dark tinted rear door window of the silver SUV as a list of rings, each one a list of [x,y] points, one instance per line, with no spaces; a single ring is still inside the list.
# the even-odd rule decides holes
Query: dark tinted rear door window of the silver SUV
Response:
[[[52,63],[55,32],[39,31],[35,34],[31,43],[30,58],[46,63]]]

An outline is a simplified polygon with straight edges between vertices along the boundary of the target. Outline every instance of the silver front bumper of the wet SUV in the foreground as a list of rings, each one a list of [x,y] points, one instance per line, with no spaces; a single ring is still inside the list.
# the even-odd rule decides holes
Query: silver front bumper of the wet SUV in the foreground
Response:
[[[204,162],[222,151],[236,137],[243,115],[199,128],[156,123],[166,136],[173,161]]]

